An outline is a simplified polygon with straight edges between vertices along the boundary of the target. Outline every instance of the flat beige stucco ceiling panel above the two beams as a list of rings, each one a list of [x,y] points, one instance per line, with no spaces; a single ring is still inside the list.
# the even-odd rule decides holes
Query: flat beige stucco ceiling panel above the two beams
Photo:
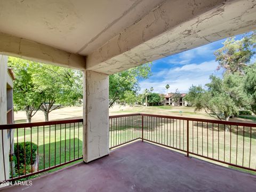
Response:
[[[87,55],[162,1],[0,1],[0,33]]]

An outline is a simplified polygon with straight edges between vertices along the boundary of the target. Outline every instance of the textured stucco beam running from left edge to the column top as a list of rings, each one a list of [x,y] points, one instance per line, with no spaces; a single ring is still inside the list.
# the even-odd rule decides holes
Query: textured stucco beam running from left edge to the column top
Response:
[[[85,58],[27,39],[0,33],[0,54],[62,67],[85,69]]]

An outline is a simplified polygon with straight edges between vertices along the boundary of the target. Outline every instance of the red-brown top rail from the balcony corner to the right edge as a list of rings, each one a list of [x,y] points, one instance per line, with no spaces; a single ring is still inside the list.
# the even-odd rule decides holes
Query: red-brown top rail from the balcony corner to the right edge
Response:
[[[220,120],[214,120],[214,119],[178,117],[178,116],[143,114],[143,113],[141,113],[140,115],[142,115],[142,116],[150,116],[150,117],[162,117],[162,118],[181,119],[181,120],[203,122],[203,123],[215,123],[215,124],[225,124],[225,125],[237,125],[237,126],[246,126],[246,127],[256,127],[256,123],[229,122],[229,121],[220,121]]]

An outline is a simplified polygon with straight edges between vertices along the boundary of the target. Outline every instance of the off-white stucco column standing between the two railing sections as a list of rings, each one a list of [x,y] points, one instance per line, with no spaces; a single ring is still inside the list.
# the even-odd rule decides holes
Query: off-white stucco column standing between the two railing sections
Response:
[[[108,75],[83,72],[83,160],[109,154]]]

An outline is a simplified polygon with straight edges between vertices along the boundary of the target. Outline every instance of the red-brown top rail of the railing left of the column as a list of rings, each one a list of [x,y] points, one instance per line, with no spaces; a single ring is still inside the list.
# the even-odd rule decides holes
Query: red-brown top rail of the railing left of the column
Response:
[[[49,122],[35,122],[35,123],[15,123],[15,124],[5,124],[0,125],[0,130],[17,129],[24,127],[35,127],[35,126],[47,126],[47,125],[57,125],[57,124],[68,124],[68,123],[79,123],[83,122],[83,119],[67,119]]]

